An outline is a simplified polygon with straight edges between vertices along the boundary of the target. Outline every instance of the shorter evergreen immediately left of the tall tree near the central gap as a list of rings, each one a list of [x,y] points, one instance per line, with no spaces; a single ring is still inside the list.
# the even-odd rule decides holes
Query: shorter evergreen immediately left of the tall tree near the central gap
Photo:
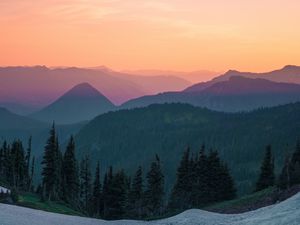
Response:
[[[130,217],[141,219],[143,215],[143,173],[142,167],[139,166],[133,180],[129,192],[129,215]]]

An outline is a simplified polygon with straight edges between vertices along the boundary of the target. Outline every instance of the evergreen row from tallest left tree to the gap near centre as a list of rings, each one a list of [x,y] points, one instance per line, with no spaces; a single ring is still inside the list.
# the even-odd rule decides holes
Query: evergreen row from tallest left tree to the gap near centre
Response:
[[[101,179],[99,163],[92,175],[88,155],[77,162],[73,137],[64,154],[60,151],[53,126],[42,165],[42,184],[38,192],[43,200],[62,200],[88,216],[104,219],[142,218],[161,215],[165,210],[164,175],[158,156],[146,175],[145,189],[141,167],[132,182],[124,170],[115,172],[112,167]]]

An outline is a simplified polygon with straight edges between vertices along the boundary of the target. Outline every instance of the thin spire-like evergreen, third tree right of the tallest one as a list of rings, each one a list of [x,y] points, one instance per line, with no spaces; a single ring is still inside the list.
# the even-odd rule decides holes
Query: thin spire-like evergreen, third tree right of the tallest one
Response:
[[[97,163],[95,180],[93,185],[93,215],[99,217],[103,213],[103,202],[101,193],[101,182],[100,182],[100,165]]]

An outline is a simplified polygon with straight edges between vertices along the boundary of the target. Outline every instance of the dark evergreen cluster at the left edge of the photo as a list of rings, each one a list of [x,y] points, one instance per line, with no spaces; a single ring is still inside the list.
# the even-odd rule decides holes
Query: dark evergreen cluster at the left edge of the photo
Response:
[[[21,191],[33,190],[34,157],[31,157],[31,138],[25,149],[20,140],[0,147],[0,184]]]

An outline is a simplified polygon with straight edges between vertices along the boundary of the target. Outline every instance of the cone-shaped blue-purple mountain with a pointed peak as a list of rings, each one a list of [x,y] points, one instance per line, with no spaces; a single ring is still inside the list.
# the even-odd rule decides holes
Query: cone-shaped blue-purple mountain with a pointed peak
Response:
[[[46,122],[72,124],[90,120],[114,108],[115,106],[98,90],[88,83],[81,83],[31,117]]]

